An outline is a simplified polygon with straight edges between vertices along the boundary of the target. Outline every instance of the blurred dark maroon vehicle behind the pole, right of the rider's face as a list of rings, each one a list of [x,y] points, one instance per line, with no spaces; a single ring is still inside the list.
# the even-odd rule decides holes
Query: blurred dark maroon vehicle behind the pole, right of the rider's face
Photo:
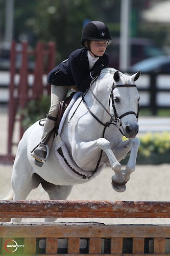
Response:
[[[120,39],[113,38],[108,45],[107,53],[109,55],[109,66],[119,69],[119,45]],[[148,38],[130,39],[131,61],[130,66],[139,62],[140,60],[147,59],[154,56],[163,55],[162,49],[155,46],[153,41]]]

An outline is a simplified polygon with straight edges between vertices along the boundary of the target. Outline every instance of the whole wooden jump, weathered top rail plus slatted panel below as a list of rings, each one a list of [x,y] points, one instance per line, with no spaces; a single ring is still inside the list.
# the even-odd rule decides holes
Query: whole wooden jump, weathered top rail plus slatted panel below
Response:
[[[170,202],[0,201],[0,217],[170,218]],[[66,219],[67,220],[67,219]],[[0,223],[0,255],[169,255],[170,225]]]

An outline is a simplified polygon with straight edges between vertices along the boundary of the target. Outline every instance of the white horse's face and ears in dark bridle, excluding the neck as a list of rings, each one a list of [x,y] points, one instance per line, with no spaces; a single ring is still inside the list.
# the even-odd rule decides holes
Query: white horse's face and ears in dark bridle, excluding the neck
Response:
[[[114,117],[120,119],[124,134],[127,138],[135,138],[138,133],[139,94],[135,81],[140,71],[127,76],[116,71],[113,75],[112,106]],[[131,90],[129,90],[131,88]],[[129,116],[131,115],[131,116]]]

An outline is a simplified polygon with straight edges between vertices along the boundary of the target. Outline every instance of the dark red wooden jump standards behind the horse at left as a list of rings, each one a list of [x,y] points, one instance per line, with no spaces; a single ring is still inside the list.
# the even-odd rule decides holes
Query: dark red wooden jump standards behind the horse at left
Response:
[[[20,80],[18,84],[15,84],[16,71],[16,55],[21,54],[21,67],[19,70]],[[35,69],[34,69],[34,82],[32,87],[32,95],[29,93],[28,77],[30,72],[28,70],[28,56],[30,54],[35,55]],[[46,60],[46,66],[45,66]],[[28,42],[23,42],[22,50],[16,51],[16,42],[12,42],[11,47],[11,68],[10,68],[10,97],[9,97],[9,126],[8,126],[8,154],[6,156],[7,162],[9,159],[13,160],[12,145],[13,143],[13,131],[16,120],[17,109],[22,110],[25,108],[26,102],[31,99],[38,99],[44,92],[43,76],[47,75],[55,66],[55,43],[49,42],[47,50],[44,49],[44,43],[38,42],[36,51],[30,52],[28,50]],[[47,87],[47,93],[50,94],[50,86]],[[19,137],[23,135],[22,116],[19,118],[20,131]],[[4,158],[5,161],[5,158]]]

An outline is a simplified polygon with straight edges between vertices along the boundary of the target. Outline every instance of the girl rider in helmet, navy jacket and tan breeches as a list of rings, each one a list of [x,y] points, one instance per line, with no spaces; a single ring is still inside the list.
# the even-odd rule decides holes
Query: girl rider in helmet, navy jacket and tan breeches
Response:
[[[32,152],[35,164],[39,167],[46,161],[47,147],[50,150],[54,137],[59,103],[65,99],[70,88],[84,92],[91,80],[108,67],[109,59],[105,53],[111,40],[106,24],[99,21],[89,22],[82,30],[83,49],[72,52],[68,59],[54,68],[47,77],[51,87],[51,106],[44,124],[41,142]]]

